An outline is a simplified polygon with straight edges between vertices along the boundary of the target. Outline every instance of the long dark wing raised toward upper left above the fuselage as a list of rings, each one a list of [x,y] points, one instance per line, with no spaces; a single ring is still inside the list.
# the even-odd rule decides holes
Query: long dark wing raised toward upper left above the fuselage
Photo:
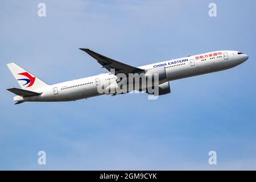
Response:
[[[110,72],[110,69],[115,69],[115,74],[117,75],[118,73],[125,73],[125,75],[128,75],[129,73],[142,73],[145,72],[144,69],[140,69],[137,67],[133,67],[131,65],[127,65],[125,63],[121,63],[119,61],[115,61],[113,59],[110,59],[109,57],[100,55],[97,52],[93,52],[90,49],[84,49],[80,48],[82,51],[85,51],[88,53],[90,56],[92,56],[94,59],[98,61],[102,65],[101,68],[106,68]]]

